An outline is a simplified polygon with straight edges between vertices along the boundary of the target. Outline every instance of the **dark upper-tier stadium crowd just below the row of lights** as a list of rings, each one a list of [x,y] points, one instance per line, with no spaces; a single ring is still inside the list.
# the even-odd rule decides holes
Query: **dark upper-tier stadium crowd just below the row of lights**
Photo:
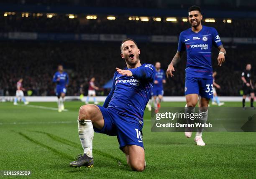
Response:
[[[37,32],[37,33],[104,33],[104,34],[131,34],[131,35],[179,35],[189,28],[188,22],[178,19],[177,23],[148,22],[128,20],[128,16],[117,17],[116,20],[107,20],[105,16],[98,16],[96,20],[87,20],[85,15],[69,19],[65,14],[58,14],[52,18],[46,15],[37,17],[36,13],[28,18],[20,14],[0,16],[0,32]],[[221,37],[255,37],[256,20],[233,19],[232,23],[223,23],[223,19],[216,19],[215,23],[205,23],[218,29]],[[116,28],[118,27],[118,28]],[[241,28],[242,27],[242,28]],[[150,29],[150,30],[145,30]]]

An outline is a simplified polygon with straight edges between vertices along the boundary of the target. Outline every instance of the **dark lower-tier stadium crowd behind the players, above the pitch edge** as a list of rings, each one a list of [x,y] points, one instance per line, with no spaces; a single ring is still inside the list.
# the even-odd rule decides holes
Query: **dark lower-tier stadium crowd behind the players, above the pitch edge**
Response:
[[[160,61],[162,68],[167,66],[177,51],[177,44],[147,44],[139,43],[141,62],[152,63]],[[120,58],[119,43],[35,43],[15,42],[0,43],[0,95],[15,95],[16,83],[23,78],[26,90],[33,91],[34,96],[53,96],[52,77],[58,64],[63,64],[69,74],[67,95],[79,95],[79,87],[84,85],[87,94],[88,82],[92,76],[96,78],[95,85],[102,87],[113,78],[115,67],[124,68],[125,62]],[[213,50],[213,70],[218,72],[216,82],[220,84],[220,96],[239,96],[242,88],[241,71],[246,63],[256,66],[253,46],[228,48],[224,66],[217,67],[218,50]],[[175,69],[174,77],[168,78],[164,85],[166,96],[184,95],[184,69],[186,55]],[[252,69],[254,70],[254,69]],[[255,72],[253,78],[256,77]],[[255,82],[254,82],[255,83]],[[109,89],[108,89],[109,90]],[[105,90],[104,95],[108,94]],[[1,94],[2,93],[2,94]]]

